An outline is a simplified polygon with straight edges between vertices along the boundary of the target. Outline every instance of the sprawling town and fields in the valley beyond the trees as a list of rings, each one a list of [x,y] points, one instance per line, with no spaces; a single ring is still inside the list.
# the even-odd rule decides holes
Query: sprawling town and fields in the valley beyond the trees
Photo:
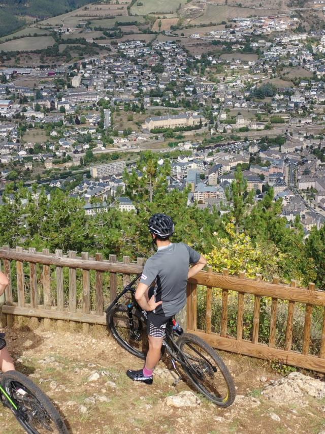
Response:
[[[226,212],[240,168],[255,202],[273,188],[288,225],[321,228],[325,4],[220,3],[96,2],[2,36],[2,192],[136,211],[123,173],[149,150],[188,206]]]

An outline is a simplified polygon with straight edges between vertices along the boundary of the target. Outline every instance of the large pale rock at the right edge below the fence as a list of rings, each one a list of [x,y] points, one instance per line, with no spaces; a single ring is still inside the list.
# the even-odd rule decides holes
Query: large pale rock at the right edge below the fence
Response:
[[[286,378],[281,378],[267,385],[262,394],[278,404],[295,402],[302,404],[307,396],[321,399],[325,396],[325,383],[307,377],[299,372],[292,372]]]

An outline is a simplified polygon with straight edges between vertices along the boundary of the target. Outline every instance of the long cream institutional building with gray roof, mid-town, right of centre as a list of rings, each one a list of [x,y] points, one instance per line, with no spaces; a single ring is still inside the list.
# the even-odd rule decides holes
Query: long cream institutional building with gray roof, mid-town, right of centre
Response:
[[[150,131],[155,128],[194,127],[199,125],[200,122],[205,122],[205,118],[201,114],[180,113],[175,115],[147,117],[143,128]]]

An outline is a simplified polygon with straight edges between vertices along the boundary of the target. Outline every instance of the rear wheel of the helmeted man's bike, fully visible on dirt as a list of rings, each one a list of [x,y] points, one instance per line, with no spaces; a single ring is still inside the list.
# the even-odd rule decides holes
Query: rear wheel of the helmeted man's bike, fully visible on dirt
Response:
[[[236,396],[234,381],[218,353],[190,333],[180,336],[177,345],[183,353],[183,369],[197,390],[219,407],[232,405]]]

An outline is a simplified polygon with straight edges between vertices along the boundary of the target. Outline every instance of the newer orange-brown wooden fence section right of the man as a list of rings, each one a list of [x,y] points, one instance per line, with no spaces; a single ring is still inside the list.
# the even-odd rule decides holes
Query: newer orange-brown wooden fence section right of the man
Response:
[[[212,273],[211,270],[208,270],[208,272],[202,271],[192,277],[187,285],[187,332],[197,334],[207,340],[210,345],[220,350],[275,360],[281,363],[325,373],[325,292],[315,290],[313,283],[309,284],[307,289],[299,288],[297,282],[294,280],[291,281],[290,285],[284,285],[279,284],[279,278],[277,276],[273,278],[272,283],[265,282],[262,278],[263,276],[260,274],[256,275],[255,280],[246,278],[245,272],[239,273],[239,276],[229,276],[229,272],[226,269],[223,270],[222,274]],[[206,287],[205,329],[199,329],[197,324],[198,314],[196,300],[198,299],[198,285]],[[219,291],[219,297],[221,298],[219,333],[213,333],[211,325],[213,288]],[[230,333],[228,333],[229,291],[235,291],[235,293],[237,293],[236,336],[231,336]],[[253,296],[252,331],[250,340],[243,338],[244,298],[246,295]],[[259,342],[261,303],[263,297],[269,299],[270,305],[268,345]],[[287,302],[284,348],[277,348],[276,346],[278,300],[285,300]],[[301,352],[291,349],[293,346],[296,303],[305,305]],[[319,306],[322,309],[323,315],[318,355],[310,354],[312,312],[315,306]]]

